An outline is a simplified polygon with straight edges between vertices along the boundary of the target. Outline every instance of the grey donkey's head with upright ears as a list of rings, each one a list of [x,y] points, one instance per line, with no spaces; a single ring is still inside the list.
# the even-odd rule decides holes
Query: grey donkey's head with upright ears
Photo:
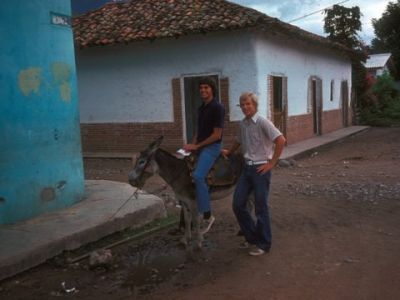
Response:
[[[157,138],[147,148],[140,152],[136,159],[135,166],[131,172],[129,172],[129,184],[142,188],[146,183],[146,180],[153,176],[158,171],[157,163],[154,160],[154,154],[160,147],[163,136]]]

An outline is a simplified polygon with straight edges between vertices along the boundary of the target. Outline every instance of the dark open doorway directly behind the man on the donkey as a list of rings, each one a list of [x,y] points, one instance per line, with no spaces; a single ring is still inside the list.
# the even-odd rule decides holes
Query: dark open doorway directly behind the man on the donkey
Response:
[[[204,75],[212,77],[217,83],[216,99],[219,99],[219,78],[218,75]],[[197,130],[197,110],[203,103],[199,92],[199,81],[204,76],[184,77],[184,95],[185,95],[185,124],[186,141],[192,142]]]

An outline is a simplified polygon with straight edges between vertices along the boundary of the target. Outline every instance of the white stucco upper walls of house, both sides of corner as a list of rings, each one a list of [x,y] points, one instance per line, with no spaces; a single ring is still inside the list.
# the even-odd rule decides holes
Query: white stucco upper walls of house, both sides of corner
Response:
[[[184,76],[228,77],[232,121],[242,118],[236,104],[244,91],[259,95],[268,116],[268,75],[288,77],[289,116],[307,113],[310,76],[322,79],[324,111],[340,108],[342,80],[351,90],[350,61],[335,52],[247,31],[83,49],[76,60],[82,123],[172,122],[171,79],[183,85]]]

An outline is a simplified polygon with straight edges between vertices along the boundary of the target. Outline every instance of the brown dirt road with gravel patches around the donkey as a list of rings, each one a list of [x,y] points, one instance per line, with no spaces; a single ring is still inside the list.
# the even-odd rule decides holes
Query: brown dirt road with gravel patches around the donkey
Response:
[[[85,168],[126,181],[129,161]],[[400,299],[399,178],[400,128],[373,128],[275,169],[269,254],[238,249],[228,197],[213,202],[201,253],[163,231],[113,248],[110,269],[50,261],[1,282],[0,299]],[[63,281],[79,291],[65,294]]]

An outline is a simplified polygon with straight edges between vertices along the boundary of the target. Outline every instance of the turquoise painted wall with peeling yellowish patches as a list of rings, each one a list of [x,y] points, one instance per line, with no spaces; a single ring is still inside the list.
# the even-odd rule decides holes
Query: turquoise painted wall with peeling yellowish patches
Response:
[[[70,0],[0,1],[0,224],[83,196],[70,14]]]

